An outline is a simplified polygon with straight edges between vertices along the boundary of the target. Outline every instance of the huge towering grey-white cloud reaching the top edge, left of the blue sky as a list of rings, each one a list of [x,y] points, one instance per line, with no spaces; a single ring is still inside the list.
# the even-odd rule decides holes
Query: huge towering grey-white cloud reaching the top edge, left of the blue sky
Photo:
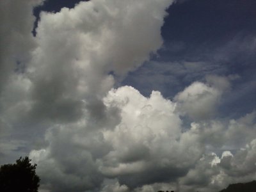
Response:
[[[114,84],[109,73],[123,76],[161,46],[160,29],[171,2],[88,1],[41,13],[38,47],[28,68],[35,100],[31,113],[77,120],[81,100],[99,113],[100,100]]]

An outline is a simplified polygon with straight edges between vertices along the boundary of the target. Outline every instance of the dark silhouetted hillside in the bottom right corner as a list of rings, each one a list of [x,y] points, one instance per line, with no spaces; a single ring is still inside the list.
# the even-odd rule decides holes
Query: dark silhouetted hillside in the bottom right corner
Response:
[[[256,180],[246,183],[230,184],[227,189],[220,192],[256,192]]]

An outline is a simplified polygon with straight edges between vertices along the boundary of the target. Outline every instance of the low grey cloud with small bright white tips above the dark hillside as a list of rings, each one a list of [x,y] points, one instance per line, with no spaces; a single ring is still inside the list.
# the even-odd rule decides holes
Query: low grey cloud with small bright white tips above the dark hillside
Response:
[[[221,157],[208,154],[189,170],[186,177],[180,179],[182,191],[216,191],[226,188],[230,183],[246,182],[255,178],[255,140],[246,148],[237,150],[233,155],[224,151]]]

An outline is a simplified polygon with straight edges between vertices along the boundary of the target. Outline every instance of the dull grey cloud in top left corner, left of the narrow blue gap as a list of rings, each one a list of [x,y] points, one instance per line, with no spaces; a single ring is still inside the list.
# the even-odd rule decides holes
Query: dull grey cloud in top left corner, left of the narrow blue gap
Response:
[[[41,0],[1,1],[0,34],[0,93],[2,87],[12,75],[29,60],[30,51],[35,47],[31,30],[35,18],[32,16],[33,7],[42,3]]]

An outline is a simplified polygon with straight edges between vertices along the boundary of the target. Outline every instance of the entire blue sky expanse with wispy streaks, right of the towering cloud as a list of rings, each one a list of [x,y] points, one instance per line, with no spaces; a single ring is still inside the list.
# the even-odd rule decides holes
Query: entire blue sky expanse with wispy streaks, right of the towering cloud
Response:
[[[152,70],[152,76],[143,71],[150,70],[150,63],[133,72],[124,84],[141,89],[145,95],[151,90],[160,90],[165,97],[173,97],[193,81],[204,79],[206,74],[219,76],[237,75],[232,93],[227,95],[225,106],[221,107],[225,116],[239,116],[250,113],[255,108],[255,47],[253,36],[256,32],[255,1],[185,1],[168,8],[161,33],[164,47],[159,51],[154,65],[161,68],[166,78],[161,83],[148,84],[159,74]],[[168,63],[162,65],[162,62]],[[178,70],[184,70],[182,63],[196,63],[195,68],[175,74],[173,63],[180,63]],[[166,70],[164,69],[166,67]],[[175,66],[177,67],[177,66]],[[173,67],[174,68],[174,67]],[[144,82],[137,76],[143,76]],[[139,77],[140,78],[140,77]],[[174,81],[174,82],[173,82]],[[248,85],[250,84],[250,85]],[[248,88],[250,86],[250,88]],[[243,100],[243,102],[240,102]]]

